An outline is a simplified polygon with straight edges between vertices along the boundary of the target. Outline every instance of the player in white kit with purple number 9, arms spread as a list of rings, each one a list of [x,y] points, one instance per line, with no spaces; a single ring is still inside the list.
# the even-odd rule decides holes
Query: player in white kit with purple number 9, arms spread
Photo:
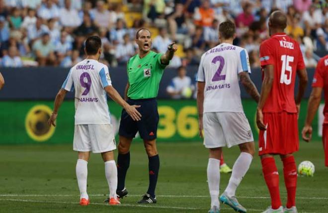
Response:
[[[56,125],[57,113],[65,95],[75,90],[73,149],[79,153],[76,174],[81,194],[80,205],[87,206],[90,203],[86,193],[87,161],[90,151],[101,153],[110,192],[109,204],[118,205],[120,202],[116,197],[117,168],[113,154],[116,143],[106,93],[124,107],[134,120],[140,120],[141,114],[136,109],[139,106],[130,106],[121,98],[112,87],[108,67],[98,62],[101,54],[101,39],[98,36],[87,38],[84,51],[87,55],[86,59],[71,68],[62,89],[56,96],[49,125]]]

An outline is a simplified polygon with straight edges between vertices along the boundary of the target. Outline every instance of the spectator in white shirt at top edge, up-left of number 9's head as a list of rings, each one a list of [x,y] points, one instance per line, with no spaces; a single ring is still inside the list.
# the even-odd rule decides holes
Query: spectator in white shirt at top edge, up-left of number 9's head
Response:
[[[98,27],[111,28],[113,25],[111,21],[110,12],[105,8],[103,0],[98,0],[96,9],[92,9],[94,13],[94,23]]]

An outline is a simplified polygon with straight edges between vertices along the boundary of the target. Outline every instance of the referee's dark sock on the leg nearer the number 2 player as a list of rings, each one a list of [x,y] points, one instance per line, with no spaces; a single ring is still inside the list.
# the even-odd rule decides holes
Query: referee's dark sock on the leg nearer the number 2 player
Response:
[[[160,170],[160,157],[159,155],[155,155],[152,157],[149,157],[149,187],[147,194],[149,194],[151,197],[155,198],[155,189],[157,184],[157,178],[159,176],[159,170]]]

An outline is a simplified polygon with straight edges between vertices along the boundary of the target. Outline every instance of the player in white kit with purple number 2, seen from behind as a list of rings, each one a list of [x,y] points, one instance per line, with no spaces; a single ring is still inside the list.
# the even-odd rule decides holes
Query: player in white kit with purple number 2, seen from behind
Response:
[[[209,148],[207,180],[211,195],[209,213],[220,213],[220,156],[222,147],[239,145],[241,154],[236,160],[228,187],[220,201],[235,211],[246,213],[235,197],[254,155],[253,135],[245,116],[239,80],[247,93],[256,101],[259,94],[249,78],[248,54],[244,48],[234,46],[236,26],[231,21],[219,26],[221,44],[202,55],[197,76],[197,107],[199,134]]]

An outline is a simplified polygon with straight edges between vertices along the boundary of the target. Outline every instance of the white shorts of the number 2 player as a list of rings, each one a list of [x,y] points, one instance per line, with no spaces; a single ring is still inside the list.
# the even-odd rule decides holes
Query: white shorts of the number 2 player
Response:
[[[252,142],[253,134],[243,112],[206,112],[203,117],[206,148],[228,148]]]

